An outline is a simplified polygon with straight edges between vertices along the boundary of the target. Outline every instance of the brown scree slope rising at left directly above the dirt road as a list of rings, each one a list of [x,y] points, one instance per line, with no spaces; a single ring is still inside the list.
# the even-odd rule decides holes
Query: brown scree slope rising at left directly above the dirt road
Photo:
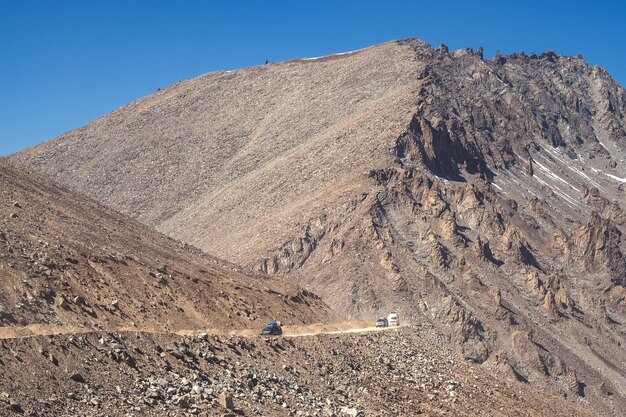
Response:
[[[332,320],[313,294],[244,275],[0,160],[0,337]]]

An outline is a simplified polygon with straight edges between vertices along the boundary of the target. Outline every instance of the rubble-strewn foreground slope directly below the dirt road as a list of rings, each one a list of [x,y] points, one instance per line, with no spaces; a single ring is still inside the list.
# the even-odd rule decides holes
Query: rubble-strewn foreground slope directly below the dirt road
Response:
[[[31,337],[0,340],[0,361],[1,415],[595,415],[494,379],[422,327],[287,339]],[[24,362],[40,370],[36,381]]]

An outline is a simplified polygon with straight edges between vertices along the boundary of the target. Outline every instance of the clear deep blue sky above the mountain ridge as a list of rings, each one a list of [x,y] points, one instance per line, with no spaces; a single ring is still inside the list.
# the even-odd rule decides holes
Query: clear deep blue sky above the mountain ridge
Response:
[[[626,83],[624,0],[0,0],[0,155],[208,71],[407,37],[583,54]]]

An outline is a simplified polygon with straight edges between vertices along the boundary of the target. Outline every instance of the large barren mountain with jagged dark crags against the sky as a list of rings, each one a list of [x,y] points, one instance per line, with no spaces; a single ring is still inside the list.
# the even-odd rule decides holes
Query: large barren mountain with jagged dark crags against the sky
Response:
[[[625,115],[581,57],[406,40],[182,81],[13,159],[623,415]]]

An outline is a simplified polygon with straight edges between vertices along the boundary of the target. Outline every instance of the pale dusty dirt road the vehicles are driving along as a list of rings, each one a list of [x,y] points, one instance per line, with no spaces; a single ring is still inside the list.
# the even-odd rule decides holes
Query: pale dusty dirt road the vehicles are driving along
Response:
[[[406,327],[407,324],[394,327],[374,327],[370,321],[347,321],[343,323],[323,324],[316,323],[308,326],[283,326],[283,337],[304,337],[316,336],[319,334],[341,334],[341,333],[365,333],[386,330],[395,330]],[[89,328],[80,326],[51,326],[46,324],[29,324],[27,326],[6,326],[0,327],[0,339],[23,339],[37,336],[51,336],[59,334],[84,334],[93,332],[129,332],[129,333],[155,333],[155,334],[177,334],[189,336],[200,333],[217,336],[258,336],[260,328],[223,330],[215,328],[200,329],[180,329],[167,330],[140,327],[118,327],[118,328]]]

